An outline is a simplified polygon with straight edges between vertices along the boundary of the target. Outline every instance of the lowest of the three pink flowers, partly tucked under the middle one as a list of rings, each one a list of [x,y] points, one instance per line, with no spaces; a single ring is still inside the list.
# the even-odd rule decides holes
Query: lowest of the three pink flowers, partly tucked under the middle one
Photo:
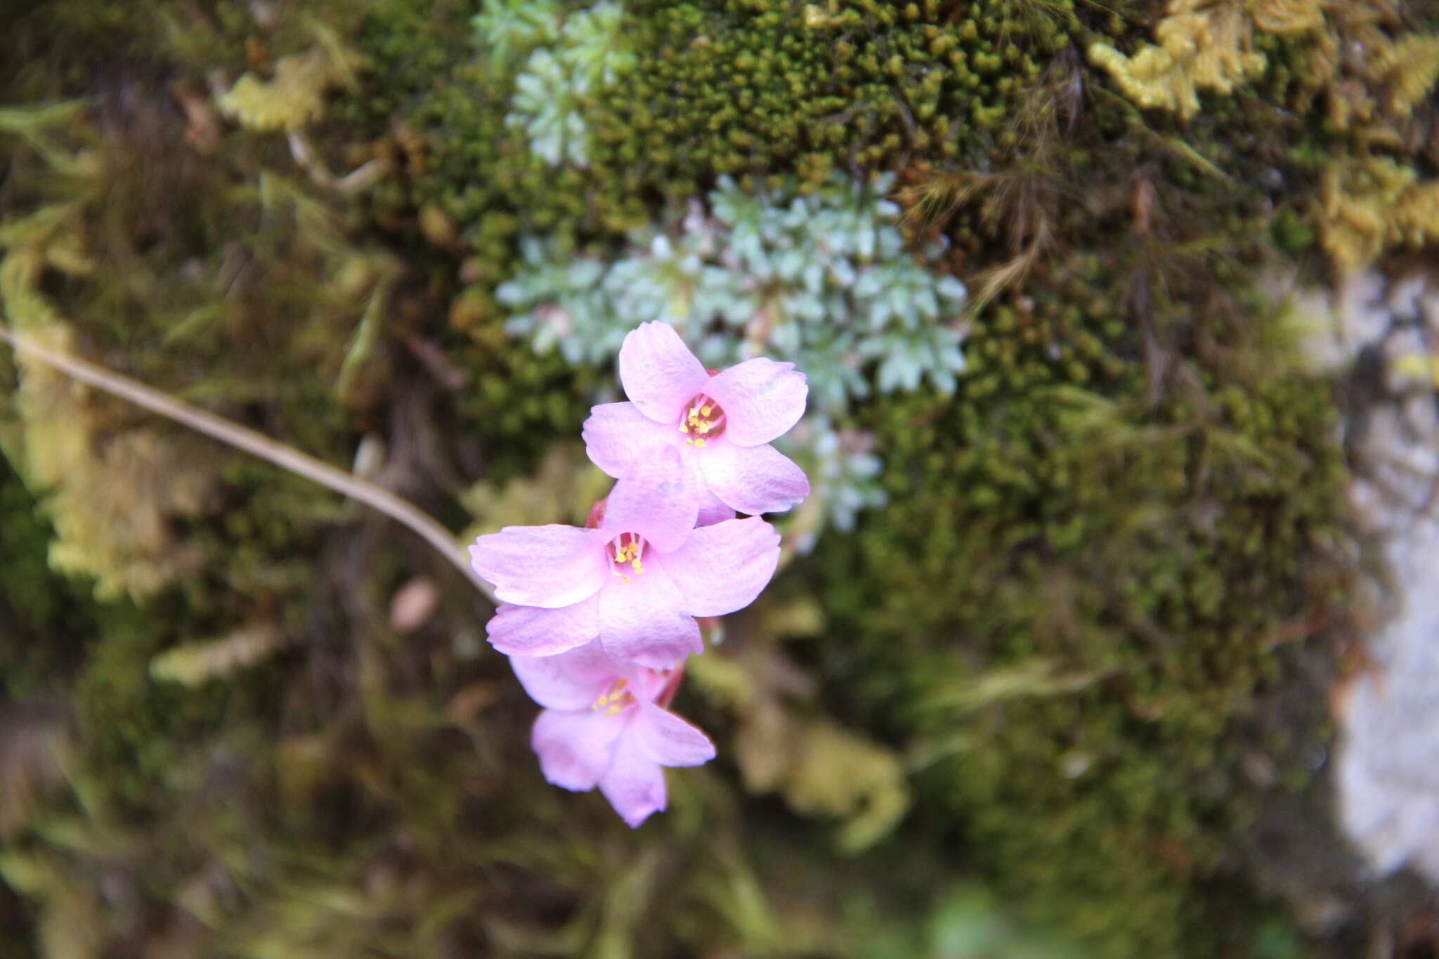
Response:
[[[678,673],[616,663],[599,643],[509,663],[545,707],[530,735],[544,778],[577,792],[600,786],[632,827],[665,809],[663,766],[715,758],[702,732],[655,705]]]

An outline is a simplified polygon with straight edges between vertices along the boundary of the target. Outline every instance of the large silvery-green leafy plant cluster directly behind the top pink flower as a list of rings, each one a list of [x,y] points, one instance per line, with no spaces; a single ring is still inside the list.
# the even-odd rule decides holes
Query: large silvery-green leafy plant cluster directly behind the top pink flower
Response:
[[[843,428],[853,404],[925,381],[948,393],[964,370],[964,285],[934,269],[943,247],[907,249],[891,187],[837,174],[799,196],[721,178],[707,203],[630,234],[616,259],[525,239],[524,269],[498,290],[517,311],[507,328],[574,365],[612,362],[650,319],[673,325],[708,367],[793,361],[810,408],[790,451],[817,480],[825,522],[849,528],[884,502],[879,459]]]

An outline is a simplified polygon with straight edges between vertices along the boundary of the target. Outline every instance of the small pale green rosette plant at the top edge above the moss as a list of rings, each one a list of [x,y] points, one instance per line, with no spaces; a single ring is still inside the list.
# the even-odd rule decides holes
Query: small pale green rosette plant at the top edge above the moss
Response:
[[[589,165],[587,98],[635,65],[623,19],[613,0],[573,13],[554,0],[485,0],[472,19],[492,72],[508,73],[524,60],[505,122],[545,162]]]

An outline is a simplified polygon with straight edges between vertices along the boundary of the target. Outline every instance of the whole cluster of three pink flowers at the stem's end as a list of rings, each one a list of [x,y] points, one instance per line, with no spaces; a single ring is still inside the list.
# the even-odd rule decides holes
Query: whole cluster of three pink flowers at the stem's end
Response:
[[[545,778],[599,786],[639,825],[665,808],[663,766],[715,755],[665,706],[704,651],[695,617],[750,605],[774,575],[780,538],[760,513],[803,500],[809,480],[770,441],[809,385],[764,358],[705,370],[663,322],[625,336],[619,368],[629,401],[584,421],[590,460],[616,480],[586,526],[507,526],[469,555],[502,602],[489,641],[544,707],[531,743]]]

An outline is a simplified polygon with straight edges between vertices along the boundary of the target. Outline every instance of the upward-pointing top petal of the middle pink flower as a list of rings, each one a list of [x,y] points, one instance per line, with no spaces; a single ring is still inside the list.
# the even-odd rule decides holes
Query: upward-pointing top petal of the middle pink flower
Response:
[[[639,533],[661,552],[669,552],[695,526],[699,490],[679,450],[650,446],[636,453],[630,472],[614,483],[600,529],[604,539]]]

